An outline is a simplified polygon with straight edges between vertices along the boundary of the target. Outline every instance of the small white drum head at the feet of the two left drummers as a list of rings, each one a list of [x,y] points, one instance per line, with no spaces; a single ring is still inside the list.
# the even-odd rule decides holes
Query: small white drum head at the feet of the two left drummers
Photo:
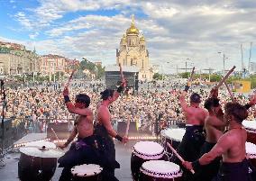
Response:
[[[84,164],[71,168],[73,176],[96,176],[101,173],[102,167],[95,164]]]

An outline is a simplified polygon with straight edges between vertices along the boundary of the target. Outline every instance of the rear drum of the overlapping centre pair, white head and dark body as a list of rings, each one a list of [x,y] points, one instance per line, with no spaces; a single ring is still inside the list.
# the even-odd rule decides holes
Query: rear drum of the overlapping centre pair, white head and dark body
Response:
[[[137,181],[142,163],[148,160],[161,159],[164,149],[159,143],[153,141],[140,141],[133,146],[131,170],[133,180]]]

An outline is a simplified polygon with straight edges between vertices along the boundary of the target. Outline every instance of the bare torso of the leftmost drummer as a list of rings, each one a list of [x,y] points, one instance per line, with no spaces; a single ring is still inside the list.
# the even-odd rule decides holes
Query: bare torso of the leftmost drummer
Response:
[[[81,116],[79,115],[76,120],[76,128],[78,130],[79,138],[86,138],[93,135],[94,125],[92,116]]]

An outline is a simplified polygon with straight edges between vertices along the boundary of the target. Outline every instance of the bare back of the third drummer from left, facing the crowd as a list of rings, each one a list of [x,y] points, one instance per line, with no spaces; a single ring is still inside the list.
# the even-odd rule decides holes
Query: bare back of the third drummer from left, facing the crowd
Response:
[[[202,108],[187,108],[186,123],[191,125],[204,125],[206,119],[206,111]]]

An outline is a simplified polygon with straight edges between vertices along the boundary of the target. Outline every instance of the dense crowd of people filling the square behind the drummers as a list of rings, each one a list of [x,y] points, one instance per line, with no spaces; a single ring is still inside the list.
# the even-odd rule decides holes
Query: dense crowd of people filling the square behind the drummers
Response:
[[[172,84],[173,83],[173,84]],[[13,86],[5,88],[7,109],[5,118],[13,118],[13,127],[19,132],[44,132],[48,122],[72,122],[75,115],[67,112],[63,103],[62,90],[65,83],[43,83],[35,86]],[[127,119],[137,122],[139,131],[155,133],[155,123],[159,119],[159,129],[164,129],[173,121],[184,122],[178,96],[184,80],[172,80],[157,83],[142,83],[139,91],[128,91],[111,104],[112,120],[114,123]],[[78,93],[86,93],[91,97],[91,108],[96,111],[96,104],[100,101],[99,93],[104,89],[101,82],[83,82],[74,80],[70,86],[70,98],[74,99]],[[209,89],[200,86],[193,87],[202,96],[202,103],[206,99]],[[188,94],[190,94],[188,92]],[[225,88],[220,90],[220,104],[231,100]],[[249,97],[238,95],[241,104],[248,102]],[[0,107],[1,108],[1,107]],[[1,109],[2,110],[2,109]],[[249,110],[247,120],[253,120],[254,108]],[[71,130],[71,128],[70,128]]]

